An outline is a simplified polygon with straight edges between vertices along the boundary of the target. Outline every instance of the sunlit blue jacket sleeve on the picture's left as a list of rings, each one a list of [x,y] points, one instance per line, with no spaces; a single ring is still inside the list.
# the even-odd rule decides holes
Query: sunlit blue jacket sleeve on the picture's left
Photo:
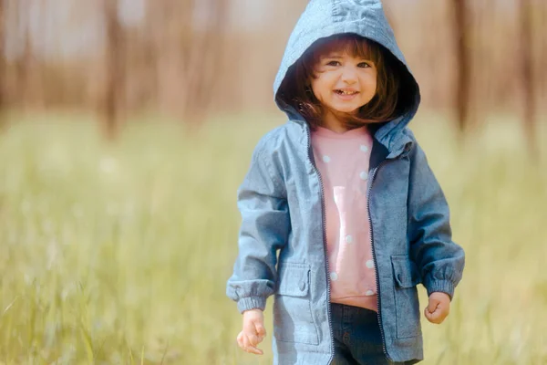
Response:
[[[242,225],[226,295],[237,302],[242,313],[263,310],[266,298],[274,294],[277,250],[285,245],[290,232],[284,179],[274,165],[273,153],[264,150],[260,141],[237,192]]]

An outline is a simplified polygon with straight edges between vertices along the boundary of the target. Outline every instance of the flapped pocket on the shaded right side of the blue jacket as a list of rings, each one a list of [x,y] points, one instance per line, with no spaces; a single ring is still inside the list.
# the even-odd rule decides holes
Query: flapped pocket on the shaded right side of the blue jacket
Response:
[[[397,339],[420,336],[418,289],[416,286],[421,280],[418,267],[408,255],[392,255],[391,265],[396,284]]]

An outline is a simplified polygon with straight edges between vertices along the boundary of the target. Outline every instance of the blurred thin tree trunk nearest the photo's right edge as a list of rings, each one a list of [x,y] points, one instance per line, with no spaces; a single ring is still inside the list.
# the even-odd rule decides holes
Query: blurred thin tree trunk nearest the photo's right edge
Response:
[[[521,72],[524,89],[524,113],[523,124],[528,147],[532,157],[538,155],[537,140],[535,138],[536,124],[536,89],[533,75],[533,18],[532,4],[530,0],[521,0],[520,4],[521,25]]]

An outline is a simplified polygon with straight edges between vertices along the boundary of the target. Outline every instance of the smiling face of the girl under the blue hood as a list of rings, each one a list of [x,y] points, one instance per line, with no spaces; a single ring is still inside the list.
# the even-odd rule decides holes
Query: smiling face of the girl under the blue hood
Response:
[[[319,57],[314,74],[311,79],[312,90],[327,114],[355,115],[376,94],[375,64],[345,51],[329,52]]]

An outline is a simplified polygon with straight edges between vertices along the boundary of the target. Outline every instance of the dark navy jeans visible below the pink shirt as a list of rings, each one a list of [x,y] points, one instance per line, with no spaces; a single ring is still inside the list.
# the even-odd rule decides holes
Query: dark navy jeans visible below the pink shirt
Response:
[[[377,312],[331,303],[335,358],[332,365],[395,365],[387,360]]]

